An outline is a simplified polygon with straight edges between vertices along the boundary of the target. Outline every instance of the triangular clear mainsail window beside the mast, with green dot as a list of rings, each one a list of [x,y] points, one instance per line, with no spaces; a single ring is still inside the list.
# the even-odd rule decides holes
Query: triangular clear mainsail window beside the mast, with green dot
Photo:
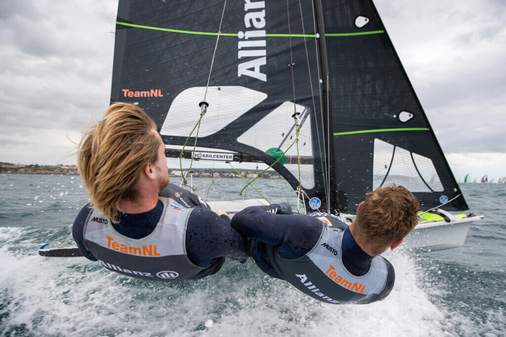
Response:
[[[299,134],[299,156],[311,158],[313,157],[313,146],[311,140],[310,110],[299,104],[296,104],[296,110],[300,113],[299,123],[302,125]],[[296,138],[295,123],[291,117],[292,115],[293,102],[284,102],[239,136],[237,141],[255,147],[263,152],[267,152],[267,150],[272,148],[277,148],[284,152]],[[284,166],[293,176],[299,179],[297,144],[294,144],[286,152],[285,157],[286,162]],[[303,187],[313,188],[313,165],[303,164],[300,166],[301,183]]]

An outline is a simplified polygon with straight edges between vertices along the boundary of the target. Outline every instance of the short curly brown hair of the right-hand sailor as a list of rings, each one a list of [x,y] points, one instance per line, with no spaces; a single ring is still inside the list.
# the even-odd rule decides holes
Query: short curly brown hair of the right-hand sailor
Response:
[[[418,207],[418,200],[403,186],[378,187],[367,194],[357,214],[359,235],[372,247],[384,249],[416,226]]]

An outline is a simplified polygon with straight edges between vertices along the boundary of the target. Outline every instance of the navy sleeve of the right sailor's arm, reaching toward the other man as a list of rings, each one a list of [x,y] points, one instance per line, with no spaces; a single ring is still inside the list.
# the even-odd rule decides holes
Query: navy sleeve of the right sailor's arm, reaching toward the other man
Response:
[[[246,237],[278,246],[284,259],[305,255],[318,242],[323,223],[307,215],[275,214],[276,207],[279,205],[248,207],[234,215],[231,226]]]

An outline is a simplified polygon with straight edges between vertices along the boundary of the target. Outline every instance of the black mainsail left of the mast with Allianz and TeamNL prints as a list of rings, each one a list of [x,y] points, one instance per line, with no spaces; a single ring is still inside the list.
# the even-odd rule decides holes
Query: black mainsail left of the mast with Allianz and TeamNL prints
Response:
[[[209,149],[207,155],[229,158],[232,153],[234,161],[268,165],[275,162],[269,150],[285,151],[295,139],[292,115],[299,113],[299,153],[293,145],[285,162],[273,168],[327,208],[313,3],[224,4],[120,0],[111,102],[139,104],[165,144],[175,146],[166,155],[178,157],[200,117],[199,102],[205,101],[209,107],[197,146]],[[185,158],[192,155],[194,135]]]

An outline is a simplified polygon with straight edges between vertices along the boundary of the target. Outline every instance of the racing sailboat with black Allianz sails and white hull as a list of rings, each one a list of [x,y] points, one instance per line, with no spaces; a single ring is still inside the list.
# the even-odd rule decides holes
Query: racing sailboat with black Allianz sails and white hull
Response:
[[[353,221],[368,191],[403,185],[437,208],[408,247],[461,246],[480,218],[449,213],[469,208],[370,0],[120,0],[116,101],[153,118],[167,157],[264,163],[306,211]]]

